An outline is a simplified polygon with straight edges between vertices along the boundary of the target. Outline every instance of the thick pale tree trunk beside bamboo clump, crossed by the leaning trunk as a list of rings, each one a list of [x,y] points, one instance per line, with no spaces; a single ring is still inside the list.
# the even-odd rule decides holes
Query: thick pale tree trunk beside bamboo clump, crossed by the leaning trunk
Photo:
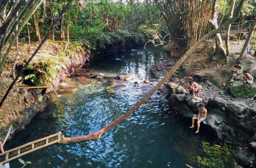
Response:
[[[212,3],[212,14],[211,18],[208,20],[212,27],[214,29],[218,29],[218,22],[217,22],[217,7],[218,7],[218,2],[217,0],[214,0]],[[217,53],[222,53],[226,55],[226,51],[223,48],[223,43],[220,34],[215,35],[215,42],[216,42],[216,52]]]

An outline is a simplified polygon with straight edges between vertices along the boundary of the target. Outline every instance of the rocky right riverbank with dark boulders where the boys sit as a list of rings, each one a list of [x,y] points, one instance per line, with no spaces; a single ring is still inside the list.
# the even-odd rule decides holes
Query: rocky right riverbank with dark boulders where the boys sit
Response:
[[[256,167],[256,103],[249,100],[256,85],[245,86],[241,80],[243,75],[240,75],[236,82],[221,86],[221,78],[211,73],[217,71],[219,61],[213,61],[213,57],[209,46],[199,46],[160,91],[167,95],[172,113],[184,118],[197,115],[199,104],[203,103],[208,113],[206,122],[200,127],[202,133],[207,131],[220,141],[236,144],[233,156],[238,163],[243,167]],[[175,60],[166,58],[165,62]],[[168,71],[170,67],[162,65],[155,69]],[[253,72],[251,74],[256,77]],[[197,82],[201,88],[200,97],[191,96],[184,89],[189,80]],[[189,122],[188,127],[190,125]]]

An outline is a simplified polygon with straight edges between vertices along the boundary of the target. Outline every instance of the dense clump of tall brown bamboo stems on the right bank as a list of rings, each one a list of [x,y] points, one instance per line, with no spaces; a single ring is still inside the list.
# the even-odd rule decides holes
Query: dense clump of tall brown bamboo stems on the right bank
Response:
[[[163,13],[171,38],[188,38],[188,47],[194,45],[210,29],[208,19],[211,14],[210,0],[165,0],[154,1]],[[176,6],[176,8],[171,8]]]

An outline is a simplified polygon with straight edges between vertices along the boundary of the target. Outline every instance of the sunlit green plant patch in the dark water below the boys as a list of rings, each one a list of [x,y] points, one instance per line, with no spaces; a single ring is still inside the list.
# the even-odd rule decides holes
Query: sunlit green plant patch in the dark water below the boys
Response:
[[[197,156],[197,162],[207,168],[235,168],[236,161],[232,157],[232,150],[227,144],[220,146],[210,145],[209,142],[202,142],[206,156]]]

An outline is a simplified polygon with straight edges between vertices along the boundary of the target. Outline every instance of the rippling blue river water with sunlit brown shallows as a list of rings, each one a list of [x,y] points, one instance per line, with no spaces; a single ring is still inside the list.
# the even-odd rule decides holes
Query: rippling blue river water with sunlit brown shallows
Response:
[[[153,88],[142,81],[153,81],[150,67],[161,63],[161,48],[148,46],[133,51],[117,52],[104,56],[93,67],[92,73],[103,73],[112,78],[104,80],[82,76],[66,78],[68,85],[56,88],[61,97],[51,94],[44,112],[34,117],[26,129],[11,139],[6,149],[19,146],[44,136],[62,131],[66,137],[82,136],[101,129],[113,122]],[[133,79],[126,86],[111,86],[113,77],[131,74]],[[163,74],[158,74],[163,77]],[[134,82],[141,84],[134,87]],[[157,82],[157,81],[155,81]],[[98,141],[70,145],[54,145],[22,157],[31,161],[27,168],[184,168],[186,164],[199,164],[198,157],[208,157],[202,142],[217,143],[206,133],[195,134],[189,129],[190,120],[169,112],[165,96],[154,94],[134,114],[109,130]],[[214,156],[216,157],[216,156]],[[222,154],[218,160],[224,160]],[[228,167],[223,161],[225,167]],[[218,163],[216,163],[218,164]],[[233,162],[232,162],[233,164]],[[20,168],[17,160],[11,168]],[[209,166],[209,167],[220,167]],[[233,166],[230,166],[233,167]]]

